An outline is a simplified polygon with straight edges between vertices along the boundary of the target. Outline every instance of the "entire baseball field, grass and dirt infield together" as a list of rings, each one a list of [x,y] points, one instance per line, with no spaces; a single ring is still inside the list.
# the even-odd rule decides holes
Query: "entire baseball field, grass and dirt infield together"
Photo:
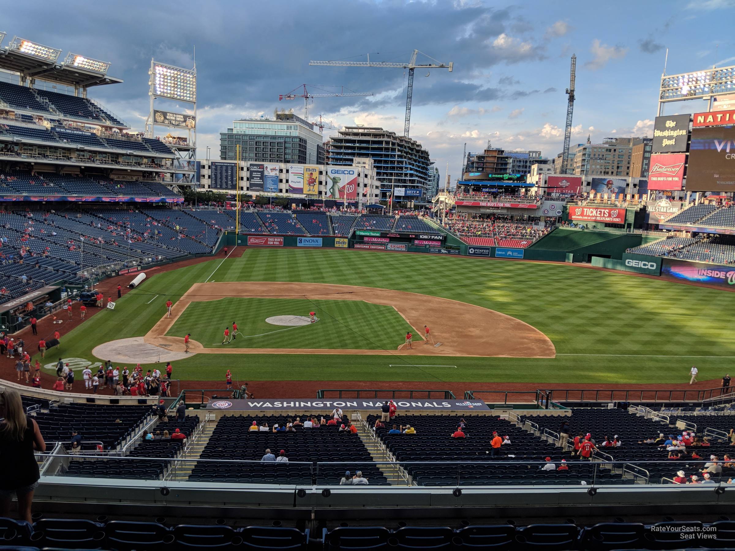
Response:
[[[138,337],[180,353],[173,363],[184,380],[221,381],[230,369],[239,381],[427,381],[437,388],[684,383],[692,365],[700,380],[717,379],[735,359],[735,293],[574,265],[235,248],[223,260],[151,274],[114,310],[64,334],[60,354],[100,361],[107,358],[93,356],[96,347]],[[309,311],[318,322],[271,323],[308,319]],[[222,345],[232,322],[235,339]],[[398,350],[408,331],[412,350]],[[183,355],[187,333],[192,347]]]

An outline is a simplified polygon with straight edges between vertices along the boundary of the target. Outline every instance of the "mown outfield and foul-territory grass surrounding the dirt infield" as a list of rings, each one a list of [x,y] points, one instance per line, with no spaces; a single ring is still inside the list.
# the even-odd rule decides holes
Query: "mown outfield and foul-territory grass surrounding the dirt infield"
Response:
[[[360,285],[461,300],[533,325],[559,356],[206,354],[177,361],[181,378],[218,381],[229,368],[240,380],[254,381],[683,383],[694,364],[704,380],[731,371],[735,359],[724,357],[735,357],[731,292],[567,264],[373,251],[248,249],[240,256],[241,251],[219,267],[221,261],[213,260],[155,275],[118,300],[114,311],[102,311],[62,336],[62,356],[94,361],[94,346],[143,336],[165,313],[167,298],[176,302],[192,284],[209,278]]]

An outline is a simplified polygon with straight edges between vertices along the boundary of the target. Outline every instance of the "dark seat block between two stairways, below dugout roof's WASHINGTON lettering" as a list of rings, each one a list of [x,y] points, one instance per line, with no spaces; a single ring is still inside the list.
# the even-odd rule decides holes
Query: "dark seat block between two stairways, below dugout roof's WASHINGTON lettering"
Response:
[[[204,447],[201,459],[240,459],[256,463],[218,463],[198,461],[189,480],[264,484],[339,484],[345,470],[362,471],[373,486],[388,485],[385,476],[373,463],[370,452],[359,435],[340,433],[337,425],[320,428],[296,427],[294,432],[249,431],[252,423],[287,422],[287,417],[221,417]],[[284,450],[288,462],[260,462],[265,450],[278,455]],[[298,461],[299,463],[296,463]],[[320,464],[320,461],[345,461],[343,464]],[[351,463],[354,462],[354,463]]]

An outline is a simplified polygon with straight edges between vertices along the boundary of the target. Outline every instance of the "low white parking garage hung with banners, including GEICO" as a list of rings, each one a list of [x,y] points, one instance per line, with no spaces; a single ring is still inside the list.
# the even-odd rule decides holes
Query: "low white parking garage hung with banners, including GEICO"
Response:
[[[201,172],[201,190],[226,191],[234,194],[234,181],[236,180],[236,176],[234,175],[237,170],[236,161],[200,159],[198,163],[200,164]],[[252,165],[257,165],[257,167]],[[215,170],[212,170],[212,168]],[[275,189],[273,191],[264,190],[263,165],[245,161],[240,161],[240,191],[247,192],[251,195],[278,195],[287,198],[322,200],[326,198],[331,199],[331,195],[329,195],[331,184],[329,184],[329,179],[326,177],[326,170],[331,167],[327,165],[306,165],[306,168],[314,168],[318,170],[317,187],[315,188],[315,192],[311,194],[293,192],[293,187],[290,187],[290,184],[292,184],[292,186],[296,185],[303,189],[304,165],[295,165],[292,163],[268,163],[265,168],[267,168],[269,176],[275,176],[276,170],[278,170],[277,191]],[[293,184],[291,181],[290,170],[292,168],[299,170],[299,176],[293,179],[293,181],[298,182],[297,184]],[[380,181],[376,178],[376,168],[373,163],[373,159],[356,158],[354,159],[354,162],[351,163],[351,168],[355,169],[357,178],[356,199],[352,201],[358,204],[373,204],[379,201],[381,185]],[[251,189],[251,170],[260,171],[257,176],[260,181],[260,189]],[[341,203],[342,200],[340,200],[340,204]]]

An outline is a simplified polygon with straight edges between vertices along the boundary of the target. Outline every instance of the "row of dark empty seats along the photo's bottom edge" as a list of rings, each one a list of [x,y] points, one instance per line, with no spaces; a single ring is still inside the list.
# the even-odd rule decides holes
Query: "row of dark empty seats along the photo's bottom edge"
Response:
[[[123,515],[124,516],[124,515]],[[693,515],[692,515],[693,516]],[[105,519],[107,517],[104,517]],[[54,519],[45,516],[33,525],[24,521],[0,519],[0,538],[19,551],[106,549],[191,550],[191,549],[259,549],[290,551],[388,551],[447,550],[476,551],[525,550],[665,550],[665,549],[731,549],[735,521],[665,520],[644,525],[639,522],[598,522],[584,525],[572,519],[557,524],[510,525],[472,524],[445,519],[440,524],[392,527],[373,522],[349,526],[348,522],[329,522],[317,532],[308,528],[285,526],[230,527],[223,524],[172,525],[159,522],[132,522],[89,519]],[[298,523],[297,523],[298,524]],[[387,523],[386,523],[387,524]],[[443,524],[443,525],[442,525]],[[302,525],[303,526],[303,525]],[[706,534],[708,537],[686,539],[684,534]],[[711,535],[711,536],[710,536]],[[29,547],[31,546],[31,547]],[[705,546],[705,547],[701,547]]]

